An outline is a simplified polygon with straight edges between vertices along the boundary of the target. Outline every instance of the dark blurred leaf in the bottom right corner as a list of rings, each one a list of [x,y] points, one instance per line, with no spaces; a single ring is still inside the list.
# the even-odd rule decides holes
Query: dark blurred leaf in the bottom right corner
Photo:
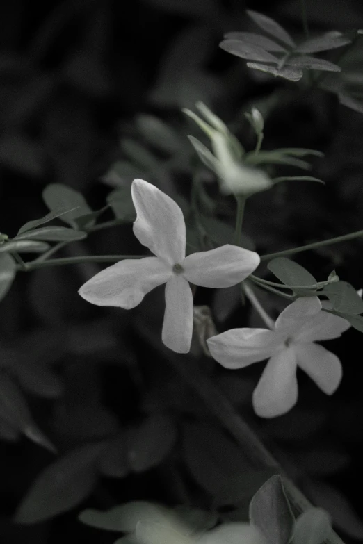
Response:
[[[363,540],[363,522],[357,516],[350,502],[336,488],[323,481],[309,481],[306,493],[317,506],[332,516],[333,524],[348,536]]]

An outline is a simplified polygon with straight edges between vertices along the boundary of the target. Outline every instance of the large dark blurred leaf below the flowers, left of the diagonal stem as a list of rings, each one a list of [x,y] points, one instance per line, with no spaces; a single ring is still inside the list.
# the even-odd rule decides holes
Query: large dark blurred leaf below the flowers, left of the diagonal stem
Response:
[[[191,474],[219,505],[250,497],[275,472],[253,468],[240,448],[210,425],[185,425],[183,450]]]

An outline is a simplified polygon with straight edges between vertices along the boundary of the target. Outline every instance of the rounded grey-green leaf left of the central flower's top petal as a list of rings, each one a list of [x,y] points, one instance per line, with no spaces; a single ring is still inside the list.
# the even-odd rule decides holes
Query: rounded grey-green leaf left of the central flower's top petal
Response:
[[[75,229],[78,228],[75,222],[77,217],[92,213],[83,195],[71,187],[63,185],[63,183],[51,183],[43,191],[42,197],[49,210],[59,210],[60,206],[69,209],[70,211],[63,213],[60,217],[65,223],[70,224]],[[94,220],[90,221],[88,226],[94,223]]]

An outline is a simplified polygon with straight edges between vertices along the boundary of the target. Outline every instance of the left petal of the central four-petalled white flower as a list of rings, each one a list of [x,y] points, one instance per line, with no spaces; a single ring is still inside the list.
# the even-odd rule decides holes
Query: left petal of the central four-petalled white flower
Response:
[[[140,304],[147,292],[166,283],[170,276],[172,270],[159,258],[127,258],[86,281],[79,295],[97,306],[129,310]]]

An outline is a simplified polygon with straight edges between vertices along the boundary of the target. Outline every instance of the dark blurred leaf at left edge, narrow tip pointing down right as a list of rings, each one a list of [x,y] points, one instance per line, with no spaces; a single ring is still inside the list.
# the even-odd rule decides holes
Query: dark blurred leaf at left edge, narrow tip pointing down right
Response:
[[[54,446],[33,422],[21,390],[3,373],[0,379],[0,417],[33,442],[54,451]]]

